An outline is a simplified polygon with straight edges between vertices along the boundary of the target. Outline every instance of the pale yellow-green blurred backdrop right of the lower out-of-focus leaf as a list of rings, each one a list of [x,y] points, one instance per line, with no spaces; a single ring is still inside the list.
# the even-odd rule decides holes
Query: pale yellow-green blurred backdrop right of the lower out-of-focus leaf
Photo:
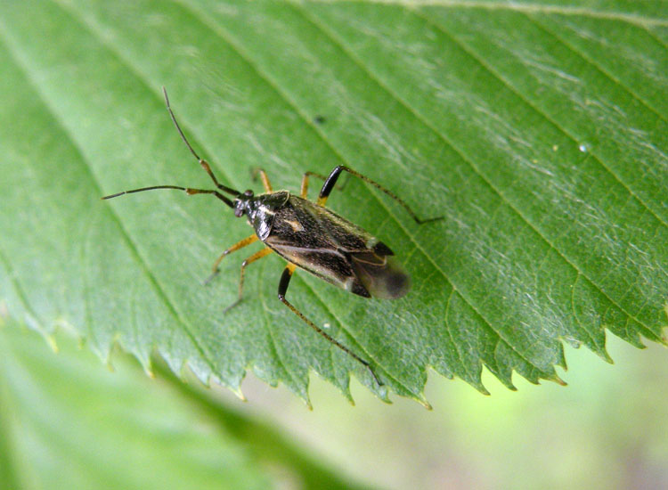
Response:
[[[615,365],[568,349],[569,383],[517,392],[485,373],[491,396],[434,373],[427,412],[403,399],[383,407],[353,390],[356,407],[314,382],[314,412],[248,383],[251,400],[339,468],[388,488],[665,488],[668,486],[668,360],[611,339]],[[257,389],[257,395],[255,390]],[[296,402],[293,400],[293,402]],[[262,403],[262,402],[260,402]],[[276,405],[277,404],[277,405]]]

